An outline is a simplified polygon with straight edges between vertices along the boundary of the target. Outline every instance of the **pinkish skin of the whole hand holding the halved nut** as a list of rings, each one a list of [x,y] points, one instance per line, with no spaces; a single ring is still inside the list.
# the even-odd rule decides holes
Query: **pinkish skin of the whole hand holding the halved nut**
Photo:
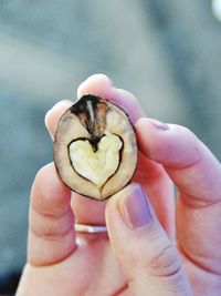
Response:
[[[220,163],[186,127],[144,118],[136,99],[107,76],[83,82],[77,95],[86,93],[124,106],[135,123],[134,183],[99,203],[71,193],[53,163],[44,166],[32,186],[28,263],[17,296],[220,295]],[[71,104],[46,114],[52,137]],[[74,221],[106,223],[108,235],[76,234]]]

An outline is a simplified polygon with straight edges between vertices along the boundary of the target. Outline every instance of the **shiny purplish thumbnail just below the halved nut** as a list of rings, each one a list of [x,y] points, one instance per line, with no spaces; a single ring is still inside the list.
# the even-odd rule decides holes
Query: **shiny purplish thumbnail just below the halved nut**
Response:
[[[130,184],[119,200],[119,212],[129,228],[148,226],[152,222],[146,194],[138,184]]]

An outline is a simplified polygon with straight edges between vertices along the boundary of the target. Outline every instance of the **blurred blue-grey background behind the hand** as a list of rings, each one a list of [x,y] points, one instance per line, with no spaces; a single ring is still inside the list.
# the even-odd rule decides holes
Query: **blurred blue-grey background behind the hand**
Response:
[[[0,294],[25,262],[29,193],[52,161],[44,114],[107,74],[221,160],[220,1],[0,1]]]

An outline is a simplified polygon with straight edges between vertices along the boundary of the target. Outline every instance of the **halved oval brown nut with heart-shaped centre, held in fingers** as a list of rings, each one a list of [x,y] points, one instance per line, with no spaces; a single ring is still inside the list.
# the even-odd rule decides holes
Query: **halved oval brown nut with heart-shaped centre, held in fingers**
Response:
[[[54,163],[73,191],[103,201],[133,177],[137,141],[125,111],[95,95],[84,95],[61,118]]]

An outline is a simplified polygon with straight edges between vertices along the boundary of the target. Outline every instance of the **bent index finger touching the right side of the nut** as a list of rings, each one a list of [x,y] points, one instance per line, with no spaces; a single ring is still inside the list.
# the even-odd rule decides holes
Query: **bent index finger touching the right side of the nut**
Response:
[[[141,119],[136,131],[143,153],[161,163],[178,187],[181,251],[200,267],[221,273],[221,164],[186,127]]]

